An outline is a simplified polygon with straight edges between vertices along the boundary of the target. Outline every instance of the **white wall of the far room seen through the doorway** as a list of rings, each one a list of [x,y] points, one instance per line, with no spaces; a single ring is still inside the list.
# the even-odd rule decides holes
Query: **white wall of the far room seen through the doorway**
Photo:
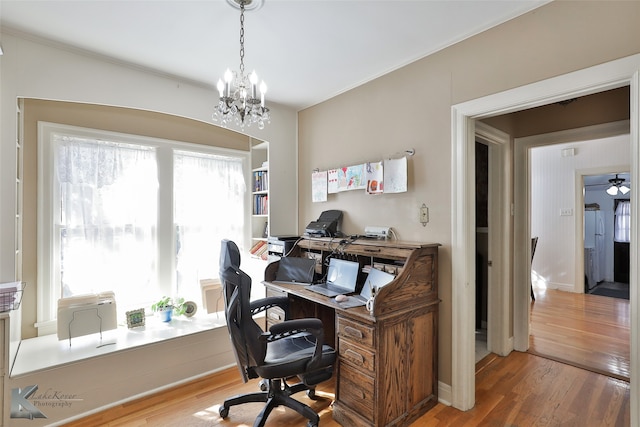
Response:
[[[566,148],[575,155],[563,157]],[[582,191],[577,178],[629,170],[629,156],[629,135],[531,149],[531,235],[539,238],[532,270],[547,287],[573,291],[576,283],[584,285],[575,277],[576,221],[583,210],[576,206]],[[572,215],[561,216],[562,209]]]

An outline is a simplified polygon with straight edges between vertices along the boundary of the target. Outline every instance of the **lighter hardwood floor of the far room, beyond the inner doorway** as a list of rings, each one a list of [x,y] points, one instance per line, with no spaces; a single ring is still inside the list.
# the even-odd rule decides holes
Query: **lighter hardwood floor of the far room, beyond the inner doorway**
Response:
[[[629,381],[629,301],[537,290],[529,353]]]

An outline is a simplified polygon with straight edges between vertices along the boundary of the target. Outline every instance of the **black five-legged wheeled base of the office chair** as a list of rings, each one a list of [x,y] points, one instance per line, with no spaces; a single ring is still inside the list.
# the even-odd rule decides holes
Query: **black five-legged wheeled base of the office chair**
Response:
[[[268,388],[266,391],[240,394],[230,397],[229,399],[224,401],[218,411],[222,418],[227,418],[227,416],[229,415],[229,408],[232,406],[250,402],[266,402],[266,405],[264,406],[262,411],[260,411],[260,414],[258,414],[258,417],[253,423],[253,427],[263,427],[267,422],[267,418],[269,417],[271,411],[278,406],[286,406],[293,409],[309,420],[309,422],[307,423],[308,427],[317,427],[318,423],[320,422],[320,417],[318,416],[318,414],[316,414],[308,405],[305,405],[304,403],[291,397],[292,394],[299,393],[304,390],[307,390],[307,395],[310,398],[313,398],[315,396],[314,387],[308,387],[303,383],[289,386],[281,379],[271,379],[269,380]]]

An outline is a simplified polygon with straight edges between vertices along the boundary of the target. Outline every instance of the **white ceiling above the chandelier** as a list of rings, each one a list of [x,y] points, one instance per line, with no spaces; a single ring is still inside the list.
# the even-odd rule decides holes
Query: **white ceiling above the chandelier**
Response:
[[[299,110],[548,1],[265,0],[245,16],[245,66],[267,102]],[[240,12],[225,0],[1,0],[0,14],[3,31],[208,88],[239,68]]]

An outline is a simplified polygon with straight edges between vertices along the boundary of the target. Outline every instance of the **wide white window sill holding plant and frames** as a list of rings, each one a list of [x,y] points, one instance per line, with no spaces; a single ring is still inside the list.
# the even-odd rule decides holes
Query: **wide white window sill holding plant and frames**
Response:
[[[177,317],[161,322],[156,316],[145,319],[145,326],[117,329],[100,334],[85,335],[69,340],[58,340],[56,334],[22,340],[10,377],[63,366],[85,359],[226,327],[224,314],[209,314],[192,318]]]

